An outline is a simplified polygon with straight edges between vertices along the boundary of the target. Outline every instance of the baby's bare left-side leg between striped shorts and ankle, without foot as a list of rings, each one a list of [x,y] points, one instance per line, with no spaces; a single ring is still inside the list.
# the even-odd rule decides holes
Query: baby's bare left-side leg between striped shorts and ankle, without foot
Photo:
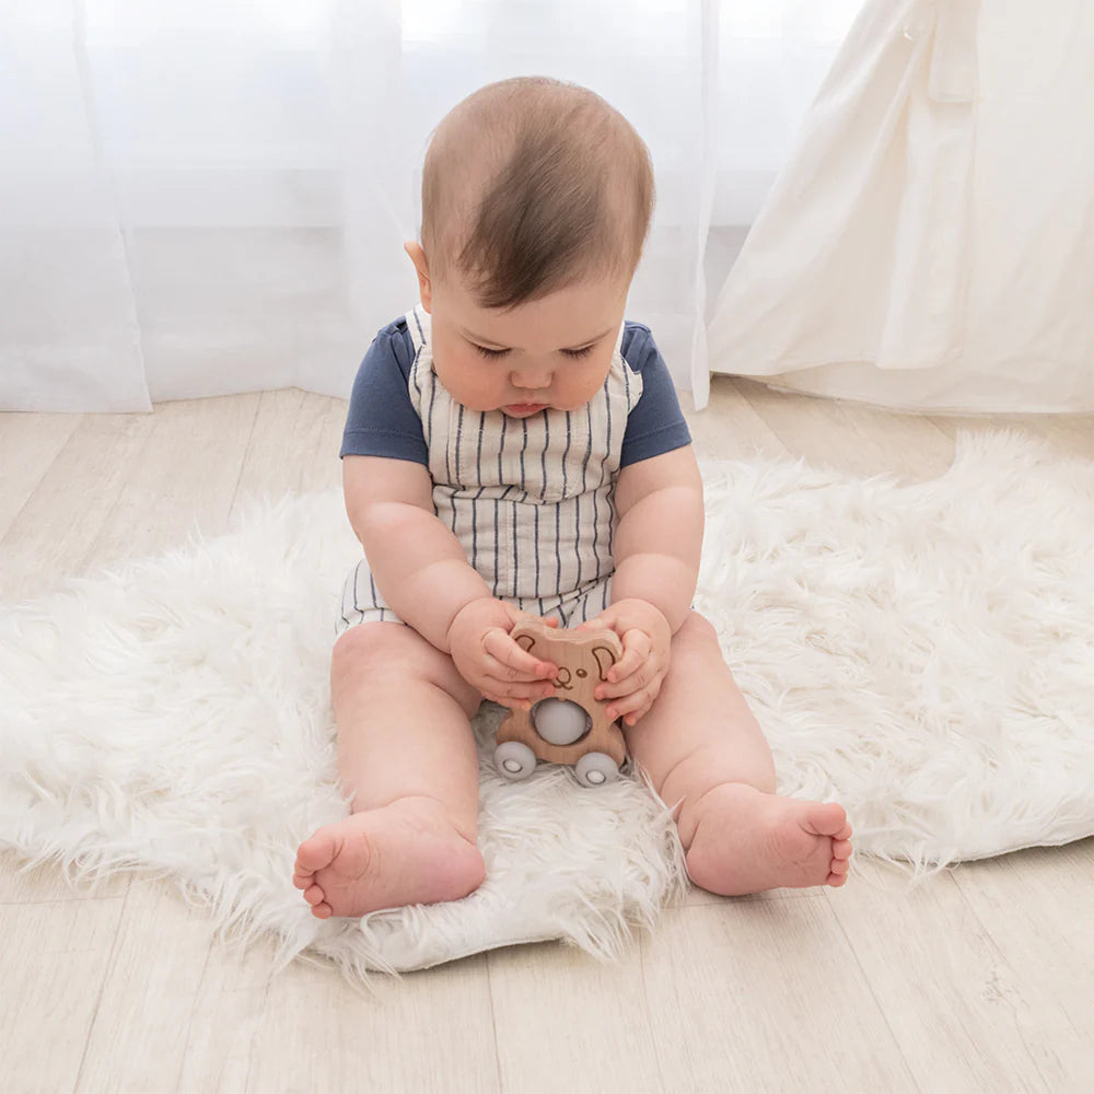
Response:
[[[480,697],[452,659],[396,622],[350,627],[335,643],[330,690],[338,773],[354,813],[405,798],[441,804],[474,842]]]

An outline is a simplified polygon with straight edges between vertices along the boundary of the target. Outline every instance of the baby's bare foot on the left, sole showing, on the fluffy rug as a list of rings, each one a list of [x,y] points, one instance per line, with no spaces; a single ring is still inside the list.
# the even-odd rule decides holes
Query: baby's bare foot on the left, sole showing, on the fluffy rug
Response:
[[[458,900],[482,883],[478,848],[435,802],[404,798],[325,825],[296,851],[292,884],[318,919]]]

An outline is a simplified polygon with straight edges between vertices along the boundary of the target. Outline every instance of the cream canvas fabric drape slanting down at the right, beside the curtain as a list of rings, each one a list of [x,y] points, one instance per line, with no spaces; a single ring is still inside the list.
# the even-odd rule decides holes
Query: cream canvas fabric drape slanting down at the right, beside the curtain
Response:
[[[924,410],[1094,409],[1094,13],[874,0],[719,295],[719,372]]]

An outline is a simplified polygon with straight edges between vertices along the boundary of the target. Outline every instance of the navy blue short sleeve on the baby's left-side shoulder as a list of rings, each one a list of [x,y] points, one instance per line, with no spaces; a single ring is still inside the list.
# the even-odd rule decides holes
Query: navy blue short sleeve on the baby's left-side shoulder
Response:
[[[357,370],[340,456],[388,456],[429,466],[421,418],[410,401],[414,342],[406,319],[373,339]]]

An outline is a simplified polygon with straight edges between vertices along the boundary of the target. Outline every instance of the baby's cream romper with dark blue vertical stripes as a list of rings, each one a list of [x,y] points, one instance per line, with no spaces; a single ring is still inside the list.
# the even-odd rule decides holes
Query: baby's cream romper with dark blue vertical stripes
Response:
[[[456,403],[432,368],[429,314],[415,307],[407,325],[408,391],[424,427],[438,517],[496,596],[566,626],[591,618],[608,603],[615,479],[627,416],[642,394],[620,353],[622,329],[585,407],[510,419]],[[366,574],[362,561],[347,579],[337,629],[381,614],[397,619]]]

